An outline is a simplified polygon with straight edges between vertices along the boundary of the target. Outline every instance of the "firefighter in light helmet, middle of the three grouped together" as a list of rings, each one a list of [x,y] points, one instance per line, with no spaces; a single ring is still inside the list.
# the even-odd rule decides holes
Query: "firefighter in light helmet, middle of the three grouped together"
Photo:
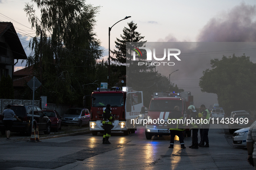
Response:
[[[188,148],[191,149],[198,149],[198,128],[199,124],[197,124],[198,120],[198,112],[195,110],[195,107],[193,105],[190,105],[188,107],[188,110],[190,111],[190,119],[191,119],[191,131],[192,131],[192,145]]]

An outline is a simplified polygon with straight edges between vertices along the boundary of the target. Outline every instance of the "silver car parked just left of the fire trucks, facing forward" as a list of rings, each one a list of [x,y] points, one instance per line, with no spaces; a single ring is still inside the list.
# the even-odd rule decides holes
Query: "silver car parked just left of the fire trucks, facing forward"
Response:
[[[79,127],[90,122],[90,111],[83,108],[69,108],[62,116],[63,125],[78,125]]]

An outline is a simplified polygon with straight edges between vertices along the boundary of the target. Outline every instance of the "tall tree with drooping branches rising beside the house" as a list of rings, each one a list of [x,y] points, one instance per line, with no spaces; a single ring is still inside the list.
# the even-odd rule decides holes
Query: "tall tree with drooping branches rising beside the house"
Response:
[[[24,10],[36,37],[29,43],[33,53],[26,66],[33,65],[39,75],[42,62],[42,93],[49,103],[82,104],[84,94],[94,88],[90,85],[96,81],[95,65],[102,56],[94,33],[99,7],[87,5],[84,0],[32,2],[41,10],[41,18],[27,3]]]

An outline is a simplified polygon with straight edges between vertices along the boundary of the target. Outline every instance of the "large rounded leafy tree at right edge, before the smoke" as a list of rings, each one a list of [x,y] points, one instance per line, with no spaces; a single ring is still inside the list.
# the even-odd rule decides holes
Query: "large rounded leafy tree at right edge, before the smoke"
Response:
[[[201,91],[217,94],[218,103],[226,113],[232,110],[254,110],[256,99],[256,64],[250,57],[223,56],[211,60],[200,78]]]

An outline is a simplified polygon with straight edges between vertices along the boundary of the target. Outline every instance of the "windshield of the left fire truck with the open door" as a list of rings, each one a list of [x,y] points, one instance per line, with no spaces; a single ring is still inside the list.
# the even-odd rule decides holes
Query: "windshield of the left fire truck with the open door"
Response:
[[[107,104],[110,104],[111,107],[122,107],[123,94],[93,94],[91,101],[92,107],[106,107]]]

